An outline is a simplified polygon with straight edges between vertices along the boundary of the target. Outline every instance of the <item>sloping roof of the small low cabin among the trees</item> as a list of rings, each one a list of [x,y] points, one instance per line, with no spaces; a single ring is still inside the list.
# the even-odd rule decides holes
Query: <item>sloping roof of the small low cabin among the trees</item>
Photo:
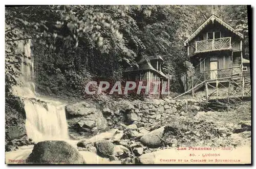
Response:
[[[149,61],[145,62],[145,63],[140,63],[139,67],[130,67],[124,70],[124,72],[136,72],[136,71],[142,71],[142,70],[152,70],[155,73],[161,75],[162,77],[165,77],[166,79],[168,79],[168,76],[166,76],[163,72],[156,70]]]

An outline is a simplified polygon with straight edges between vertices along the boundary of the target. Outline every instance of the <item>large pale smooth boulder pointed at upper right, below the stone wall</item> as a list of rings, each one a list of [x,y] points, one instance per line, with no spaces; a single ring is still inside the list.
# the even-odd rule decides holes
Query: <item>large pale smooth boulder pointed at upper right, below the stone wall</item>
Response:
[[[164,126],[143,135],[140,138],[140,141],[143,145],[146,145],[150,148],[157,148],[162,145],[162,140],[159,137],[162,137],[163,134],[164,134]]]

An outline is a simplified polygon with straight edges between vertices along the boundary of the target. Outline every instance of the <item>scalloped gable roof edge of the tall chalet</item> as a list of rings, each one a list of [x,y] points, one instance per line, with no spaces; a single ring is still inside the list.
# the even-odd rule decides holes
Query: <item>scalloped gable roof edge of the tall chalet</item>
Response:
[[[230,26],[229,24],[227,24],[226,22],[224,22],[223,20],[221,20],[220,18],[218,18],[216,15],[212,14],[203,24],[201,24],[201,26],[198,27],[198,29],[192,34],[190,35],[190,37],[187,38],[187,40],[184,42],[184,46],[187,45],[187,43],[192,40],[193,38],[195,38],[203,29],[206,25],[208,25],[208,23],[210,23],[210,21],[212,21],[212,23],[214,21],[219,22],[221,25],[223,25],[224,27],[226,27],[226,29],[228,29],[229,31],[231,31],[232,33],[238,35],[240,38],[244,38],[243,34],[241,34],[240,32],[236,31],[235,29],[233,29],[232,26]]]

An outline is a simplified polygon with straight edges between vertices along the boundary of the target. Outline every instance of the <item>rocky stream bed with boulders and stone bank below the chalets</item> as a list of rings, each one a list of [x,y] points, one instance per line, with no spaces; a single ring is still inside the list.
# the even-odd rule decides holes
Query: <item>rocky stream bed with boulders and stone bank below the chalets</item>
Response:
[[[67,105],[70,140],[6,140],[6,160],[12,158],[8,153],[33,145],[25,163],[146,164],[155,163],[152,153],[179,147],[250,147],[250,120],[226,122],[234,112],[225,117],[224,112],[205,112],[200,100],[121,100],[108,105]]]

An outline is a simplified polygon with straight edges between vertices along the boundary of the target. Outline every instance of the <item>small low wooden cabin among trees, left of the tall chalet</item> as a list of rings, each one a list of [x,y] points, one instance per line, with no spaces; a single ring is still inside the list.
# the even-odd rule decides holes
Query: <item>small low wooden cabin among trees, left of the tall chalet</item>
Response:
[[[124,70],[124,76],[127,81],[143,81],[143,85],[148,86],[150,89],[148,91],[152,91],[154,86],[156,85],[155,81],[160,81],[160,85],[158,85],[158,93],[160,96],[162,90],[162,84],[164,81],[167,81],[167,88],[165,91],[169,91],[169,77],[162,72],[161,65],[164,60],[160,55],[154,55],[151,57],[142,58],[138,62],[138,67],[130,67]],[[161,86],[161,87],[160,87]]]

